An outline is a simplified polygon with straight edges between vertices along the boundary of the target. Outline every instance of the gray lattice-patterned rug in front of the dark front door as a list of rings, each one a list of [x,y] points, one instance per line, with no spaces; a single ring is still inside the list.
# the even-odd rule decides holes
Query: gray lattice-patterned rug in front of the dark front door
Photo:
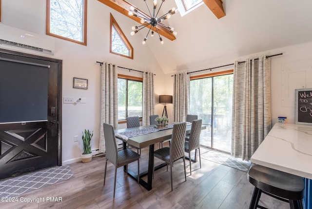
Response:
[[[74,175],[69,166],[50,167],[0,181],[0,197],[14,197],[70,179]]]

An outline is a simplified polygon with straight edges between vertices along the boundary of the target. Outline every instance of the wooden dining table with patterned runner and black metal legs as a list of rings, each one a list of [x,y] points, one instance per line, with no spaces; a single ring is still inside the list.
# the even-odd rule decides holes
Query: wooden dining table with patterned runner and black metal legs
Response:
[[[153,168],[154,168],[154,148],[155,144],[169,140],[172,137],[173,125],[175,123],[169,124],[164,128],[156,128],[155,125],[143,125],[139,127],[123,128],[115,130],[115,137],[122,141],[123,149],[127,148],[127,144],[137,148],[144,148],[149,146],[149,157],[148,157],[148,169],[140,171],[139,173],[139,184],[142,185],[147,190],[152,189],[153,181]],[[186,125],[186,134],[191,132],[191,123]],[[201,129],[205,129],[206,125],[202,125]],[[166,166],[166,163],[155,166],[155,170]],[[137,174],[132,170],[124,166],[124,171],[127,172],[129,176],[137,180]],[[143,179],[147,175],[147,181]]]

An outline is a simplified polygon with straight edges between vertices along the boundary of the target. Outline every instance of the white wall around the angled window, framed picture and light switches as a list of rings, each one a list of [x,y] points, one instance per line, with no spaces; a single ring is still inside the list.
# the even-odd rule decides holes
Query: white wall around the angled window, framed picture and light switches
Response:
[[[110,13],[134,47],[134,59],[109,53]],[[2,0],[1,23],[26,31],[45,35],[45,0]],[[98,0],[88,0],[87,46],[55,39],[55,54],[51,56],[63,61],[62,96],[86,98],[86,104],[62,104],[62,162],[69,164],[80,160],[82,153],[81,136],[86,129],[94,130],[92,149],[98,148],[100,125],[100,65],[99,62],[115,63],[118,66],[150,71],[155,76],[156,102],[158,94],[165,94],[162,85],[164,73],[150,49],[142,45],[142,37],[130,36],[135,22],[125,18]],[[43,56],[43,55],[41,55]],[[119,69],[118,73],[142,77],[139,72]],[[88,89],[73,88],[73,77],[88,79]],[[157,87],[158,86],[158,87]],[[160,104],[158,104],[160,105]],[[161,114],[160,111],[156,114]],[[74,136],[78,142],[74,142]]]

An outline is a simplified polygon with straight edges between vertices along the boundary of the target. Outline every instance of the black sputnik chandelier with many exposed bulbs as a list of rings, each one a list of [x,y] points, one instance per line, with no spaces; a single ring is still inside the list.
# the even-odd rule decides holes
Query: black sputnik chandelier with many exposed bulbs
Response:
[[[139,30],[145,28],[146,26],[149,26],[149,31],[147,32],[142,44],[145,44],[146,40],[147,40],[147,36],[148,34],[150,33],[150,31],[152,30],[151,32],[151,36],[153,37],[154,36],[154,30],[157,32],[158,36],[159,36],[159,40],[160,40],[160,43],[163,44],[164,42],[162,41],[162,38],[159,34],[159,31],[158,31],[158,28],[157,28],[157,25],[170,31],[173,35],[176,36],[176,31],[173,27],[170,27],[170,26],[166,26],[164,24],[162,24],[161,22],[163,20],[166,20],[166,19],[169,19],[171,17],[171,15],[173,14],[176,14],[178,12],[178,10],[174,7],[172,8],[171,10],[169,10],[166,14],[162,15],[161,17],[157,18],[157,15],[158,15],[158,12],[162,6],[162,3],[164,2],[165,0],[161,0],[161,4],[158,8],[158,11],[156,12],[156,7],[157,7],[157,0],[154,0],[153,1],[153,14],[151,13],[151,10],[146,2],[146,0],[144,0],[146,6],[147,6],[147,9],[150,13],[150,16],[146,15],[145,13],[141,12],[140,10],[138,10],[137,8],[131,6],[130,7],[130,11],[129,11],[129,16],[134,16],[134,17],[138,17],[138,18],[141,18],[141,24],[142,25],[137,25],[137,26],[133,26],[132,27],[132,32],[131,32],[131,35],[135,35]],[[156,12],[156,13],[155,13]]]

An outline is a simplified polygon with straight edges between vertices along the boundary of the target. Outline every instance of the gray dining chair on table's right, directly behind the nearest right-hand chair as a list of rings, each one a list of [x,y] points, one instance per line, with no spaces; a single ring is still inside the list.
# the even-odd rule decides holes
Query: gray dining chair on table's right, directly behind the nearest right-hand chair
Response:
[[[200,131],[201,131],[201,123],[202,120],[194,120],[192,122],[191,127],[191,133],[188,141],[185,141],[184,143],[184,150],[185,152],[189,153],[189,160],[190,160],[190,175],[192,175],[192,167],[191,167],[191,151],[195,150],[196,155],[196,149],[198,149],[199,153],[199,166],[201,168],[201,161],[200,161]]]

